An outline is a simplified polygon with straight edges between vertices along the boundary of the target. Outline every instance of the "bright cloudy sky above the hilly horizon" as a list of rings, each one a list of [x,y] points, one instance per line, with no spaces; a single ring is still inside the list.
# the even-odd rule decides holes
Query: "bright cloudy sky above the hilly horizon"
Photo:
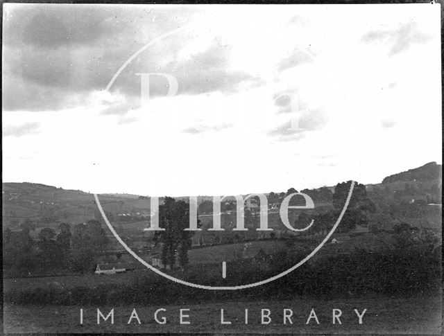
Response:
[[[5,3],[3,182],[237,195],[441,163],[440,10]]]

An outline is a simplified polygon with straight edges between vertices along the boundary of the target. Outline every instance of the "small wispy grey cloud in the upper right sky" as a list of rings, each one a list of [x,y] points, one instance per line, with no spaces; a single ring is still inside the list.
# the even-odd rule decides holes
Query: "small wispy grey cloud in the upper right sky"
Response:
[[[429,41],[430,36],[418,31],[416,22],[403,24],[396,29],[370,30],[362,37],[366,43],[382,42],[388,46],[388,55],[396,55],[406,51],[412,44],[423,44]]]

